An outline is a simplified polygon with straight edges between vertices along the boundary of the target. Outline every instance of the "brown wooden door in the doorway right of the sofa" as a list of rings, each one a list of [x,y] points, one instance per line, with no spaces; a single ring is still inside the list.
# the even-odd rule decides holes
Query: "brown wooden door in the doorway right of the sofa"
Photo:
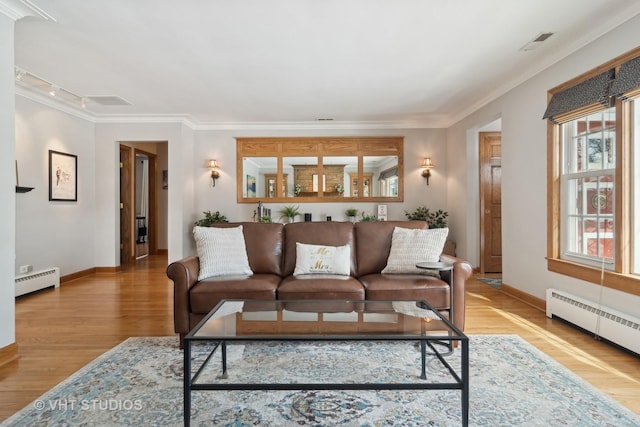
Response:
[[[480,132],[480,272],[502,272],[502,134]]]

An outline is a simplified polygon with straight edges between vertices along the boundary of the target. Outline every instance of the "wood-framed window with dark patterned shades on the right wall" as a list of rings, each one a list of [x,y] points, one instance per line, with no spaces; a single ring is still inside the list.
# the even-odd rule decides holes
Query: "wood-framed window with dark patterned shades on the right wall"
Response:
[[[548,269],[640,295],[640,49],[549,94]]]

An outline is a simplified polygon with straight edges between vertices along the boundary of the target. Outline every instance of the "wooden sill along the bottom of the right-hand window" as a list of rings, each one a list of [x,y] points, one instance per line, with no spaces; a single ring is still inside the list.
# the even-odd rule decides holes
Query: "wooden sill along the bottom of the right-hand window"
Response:
[[[600,284],[602,272],[599,268],[589,267],[561,259],[547,258],[547,269],[595,284]],[[640,296],[640,277],[631,274],[604,271],[604,287]]]

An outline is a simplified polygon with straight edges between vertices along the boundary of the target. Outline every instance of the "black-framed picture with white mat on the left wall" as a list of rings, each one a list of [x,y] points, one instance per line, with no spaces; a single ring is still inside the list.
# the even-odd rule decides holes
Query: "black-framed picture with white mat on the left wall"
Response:
[[[78,156],[49,150],[49,200],[78,201]]]

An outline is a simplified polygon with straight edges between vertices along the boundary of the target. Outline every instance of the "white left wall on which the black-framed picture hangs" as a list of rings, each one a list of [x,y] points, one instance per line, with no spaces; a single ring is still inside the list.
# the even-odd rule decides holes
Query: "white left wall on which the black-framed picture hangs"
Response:
[[[95,267],[96,192],[91,122],[15,98],[16,160],[20,183],[35,187],[16,199],[16,260],[34,270],[60,267],[66,275]],[[78,201],[49,201],[49,150],[78,160]]]

